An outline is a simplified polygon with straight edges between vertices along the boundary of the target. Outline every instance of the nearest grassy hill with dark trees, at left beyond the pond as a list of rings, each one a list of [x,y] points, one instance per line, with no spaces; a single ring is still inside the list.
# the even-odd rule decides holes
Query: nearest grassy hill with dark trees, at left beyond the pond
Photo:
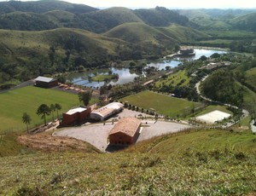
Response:
[[[125,42],[93,32],[59,28],[40,32],[0,31],[0,73],[5,81],[97,66],[118,56]],[[126,47],[129,49],[129,47]],[[0,74],[1,75],[1,74]],[[3,77],[2,77],[3,78]],[[2,81],[2,78],[0,81]]]

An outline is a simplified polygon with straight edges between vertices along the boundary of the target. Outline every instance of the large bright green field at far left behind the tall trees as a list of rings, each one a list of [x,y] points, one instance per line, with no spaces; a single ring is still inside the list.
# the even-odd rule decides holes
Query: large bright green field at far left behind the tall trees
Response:
[[[6,130],[26,130],[26,125],[21,120],[23,112],[27,112],[32,118],[30,127],[44,124],[44,120],[36,114],[38,107],[43,103],[61,104],[62,109],[59,112],[61,115],[70,107],[79,106],[79,98],[78,95],[59,90],[33,86],[2,93],[0,94],[0,133]],[[50,119],[51,116],[48,117],[48,120]]]

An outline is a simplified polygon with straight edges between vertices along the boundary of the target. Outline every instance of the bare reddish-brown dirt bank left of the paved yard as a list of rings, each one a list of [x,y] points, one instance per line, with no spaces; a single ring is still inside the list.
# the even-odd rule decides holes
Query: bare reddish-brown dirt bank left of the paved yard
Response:
[[[66,136],[52,136],[46,133],[34,135],[20,135],[18,141],[35,150],[42,152],[84,152],[97,153],[94,147],[91,147],[84,141],[80,141]]]

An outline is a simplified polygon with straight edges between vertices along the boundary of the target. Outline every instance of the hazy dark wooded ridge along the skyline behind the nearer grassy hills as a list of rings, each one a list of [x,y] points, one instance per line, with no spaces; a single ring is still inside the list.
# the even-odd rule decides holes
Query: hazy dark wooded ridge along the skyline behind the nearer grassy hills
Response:
[[[95,9],[62,1],[12,1],[0,3],[0,14],[0,28],[21,31],[72,27],[102,33],[126,22],[143,22],[148,26],[169,26],[173,23],[191,26],[187,17],[161,7]]]

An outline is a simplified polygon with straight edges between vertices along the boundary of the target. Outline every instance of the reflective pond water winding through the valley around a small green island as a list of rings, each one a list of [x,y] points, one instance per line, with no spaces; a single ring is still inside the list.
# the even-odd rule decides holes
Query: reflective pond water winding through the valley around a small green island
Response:
[[[214,53],[218,54],[225,54],[226,51],[218,50],[218,49],[195,49],[195,55],[191,57],[185,58],[186,60],[197,60],[202,55],[205,55],[207,57],[211,56]],[[156,61],[151,62],[147,66],[154,66],[158,70],[166,69],[166,66],[175,67],[182,63],[181,60],[184,58],[177,57],[174,60],[162,60],[162,61]],[[95,82],[91,81],[91,77],[96,75],[106,75],[108,72],[111,71],[113,74],[118,74],[119,78],[117,80],[112,80],[108,82]],[[72,82],[73,84],[78,84],[82,86],[87,86],[91,88],[99,88],[103,86],[104,84],[127,84],[134,80],[134,78],[137,78],[140,76],[138,73],[130,70],[129,68],[116,68],[111,67],[108,69],[96,69],[90,72],[75,72],[71,73],[67,76],[67,81]]]

